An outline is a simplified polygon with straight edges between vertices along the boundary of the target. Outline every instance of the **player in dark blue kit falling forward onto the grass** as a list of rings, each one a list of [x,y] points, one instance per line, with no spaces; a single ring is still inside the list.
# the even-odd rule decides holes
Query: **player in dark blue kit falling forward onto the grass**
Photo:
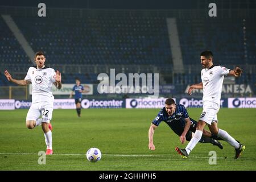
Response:
[[[148,130],[148,148],[155,150],[153,143],[154,131],[159,124],[164,121],[168,126],[180,136],[180,142],[183,144],[185,140],[190,141],[193,137],[193,133],[196,131],[196,121],[189,118],[188,112],[184,105],[175,104],[172,98],[168,98],[165,102],[165,107],[158,113],[157,117],[152,121],[150,129]],[[213,135],[207,130],[203,130],[203,135],[199,142],[201,143],[212,143],[214,146],[223,148],[222,144],[218,142],[221,138]]]

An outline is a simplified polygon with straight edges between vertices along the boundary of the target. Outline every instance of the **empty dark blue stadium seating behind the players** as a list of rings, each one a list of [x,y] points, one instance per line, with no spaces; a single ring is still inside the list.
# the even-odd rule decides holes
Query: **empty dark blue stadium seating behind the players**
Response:
[[[205,49],[212,50],[215,64],[232,65],[230,68],[248,68],[256,60],[253,18],[176,18],[185,72],[173,73],[167,15],[11,16],[31,48],[46,53],[46,64],[64,72],[64,83],[73,83],[79,77],[96,84],[98,73],[106,72],[107,65],[129,65],[119,72],[154,70],[166,84],[192,84],[200,82],[200,53]],[[22,78],[32,63],[2,17],[0,31],[1,72],[6,67]],[[86,69],[86,65],[97,69]],[[141,65],[151,69],[138,71]],[[244,73],[237,83],[255,83],[254,72],[244,69]],[[0,85],[9,82],[1,76]]]

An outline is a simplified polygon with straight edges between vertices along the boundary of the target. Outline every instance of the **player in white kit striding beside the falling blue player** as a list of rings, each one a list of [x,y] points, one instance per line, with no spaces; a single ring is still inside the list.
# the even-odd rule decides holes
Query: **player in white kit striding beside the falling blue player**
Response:
[[[175,150],[182,156],[182,158],[187,159],[189,153],[201,139],[205,125],[208,125],[211,133],[224,139],[235,148],[236,154],[234,158],[237,159],[240,157],[241,152],[245,150],[245,146],[231,137],[226,131],[218,129],[217,113],[220,109],[224,76],[240,77],[242,69],[236,67],[234,70],[230,70],[225,67],[214,65],[213,54],[211,51],[202,52],[200,59],[201,64],[203,65],[201,71],[202,82],[200,82],[200,84],[191,85],[188,89],[188,93],[191,95],[193,89],[203,89],[203,111],[200,115],[199,122],[197,122],[194,137],[188,143],[187,147],[184,149],[176,147]]]

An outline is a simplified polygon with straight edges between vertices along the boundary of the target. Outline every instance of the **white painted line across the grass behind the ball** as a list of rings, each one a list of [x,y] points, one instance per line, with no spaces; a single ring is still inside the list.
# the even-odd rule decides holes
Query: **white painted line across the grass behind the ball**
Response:
[[[35,153],[0,153],[0,155],[38,155]],[[86,155],[86,154],[53,154],[53,155]],[[173,158],[178,155],[127,155],[127,154],[102,154],[103,156],[123,156],[123,157],[163,157],[163,158]],[[199,156],[189,156],[189,158],[205,158],[209,159],[209,157],[199,157]],[[217,157],[217,159],[223,159],[227,157]]]

